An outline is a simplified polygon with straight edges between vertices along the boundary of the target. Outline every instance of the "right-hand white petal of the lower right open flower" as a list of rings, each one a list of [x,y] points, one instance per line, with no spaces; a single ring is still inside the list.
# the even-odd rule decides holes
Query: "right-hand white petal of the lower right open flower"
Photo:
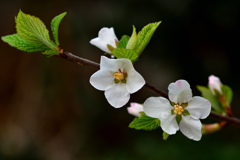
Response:
[[[195,96],[188,102],[186,110],[195,119],[204,119],[211,112],[211,103],[205,98]]]

